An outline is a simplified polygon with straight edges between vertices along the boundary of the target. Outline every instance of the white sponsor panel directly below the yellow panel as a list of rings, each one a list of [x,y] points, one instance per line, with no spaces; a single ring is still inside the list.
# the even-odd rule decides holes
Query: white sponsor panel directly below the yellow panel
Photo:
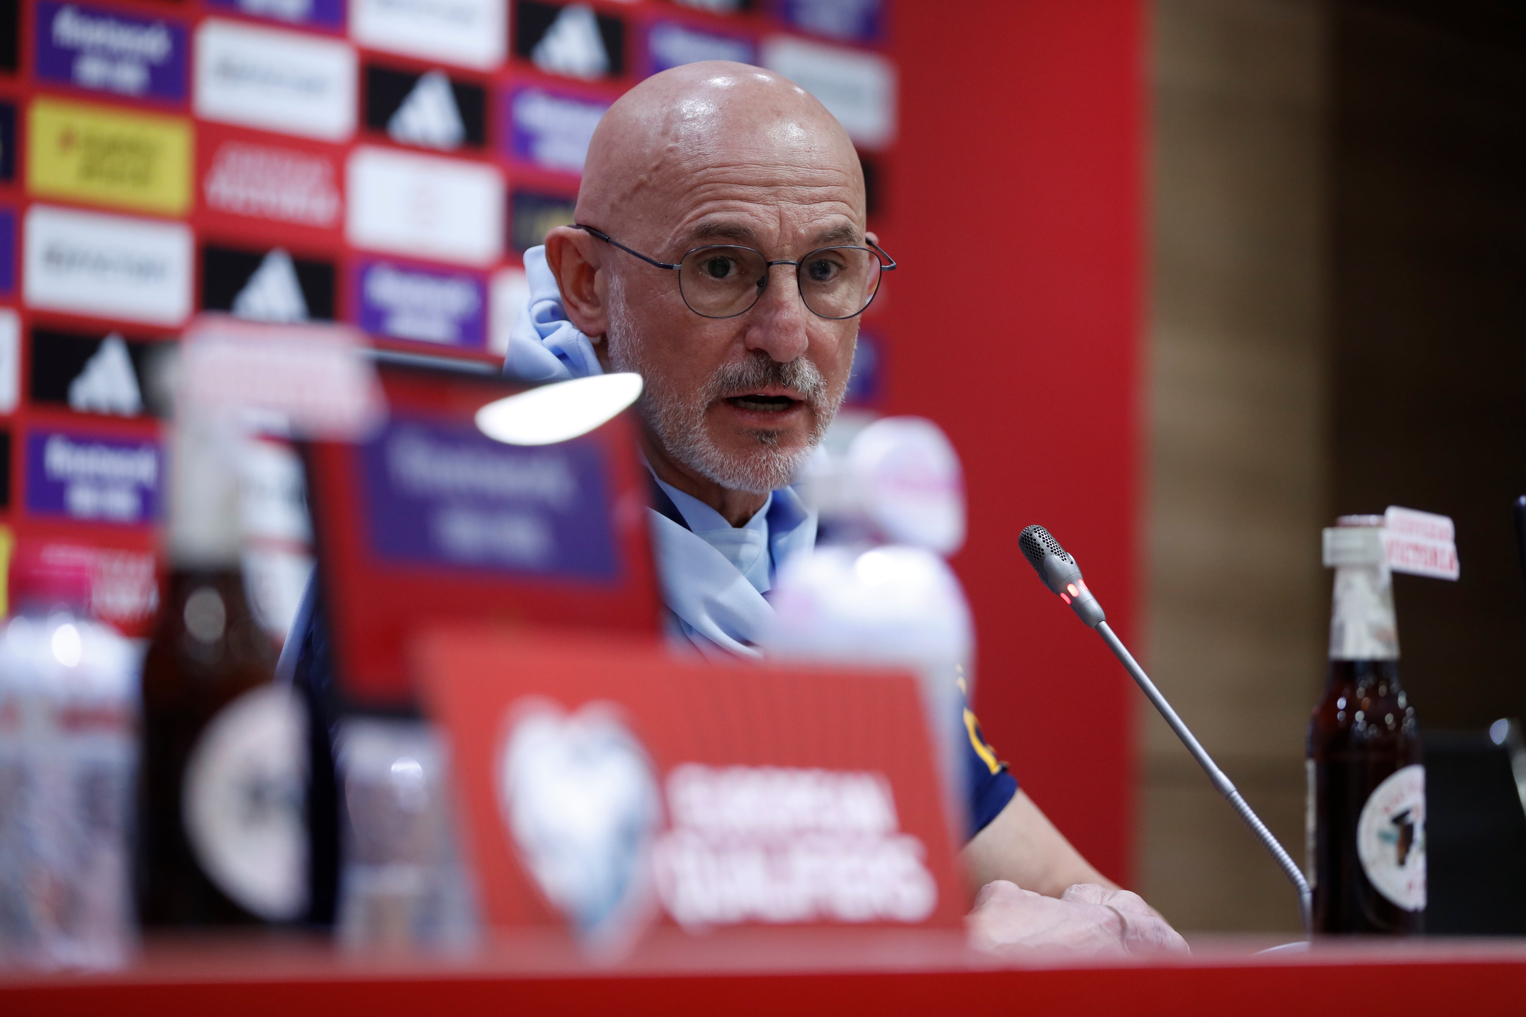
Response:
[[[34,308],[179,325],[191,313],[192,245],[185,223],[34,204],[21,294]]]

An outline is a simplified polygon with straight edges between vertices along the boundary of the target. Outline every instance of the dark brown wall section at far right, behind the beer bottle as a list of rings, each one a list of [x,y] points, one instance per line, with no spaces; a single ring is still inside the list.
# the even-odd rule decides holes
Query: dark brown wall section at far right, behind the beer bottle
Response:
[[[1331,515],[1457,521],[1462,581],[1396,582],[1430,727],[1526,717],[1526,15],[1338,0]]]

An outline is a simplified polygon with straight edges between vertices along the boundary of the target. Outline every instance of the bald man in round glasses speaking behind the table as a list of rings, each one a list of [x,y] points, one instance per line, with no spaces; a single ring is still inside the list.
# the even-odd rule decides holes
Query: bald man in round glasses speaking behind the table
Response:
[[[789,488],[847,389],[858,316],[890,256],[865,229],[847,133],[803,88],[732,63],[647,78],[589,145],[577,224],[525,255],[505,371],[645,381],[644,451],[671,636],[755,657],[780,563],[815,517]],[[977,942],[1184,948],[1097,872],[1004,767],[972,767],[963,851]],[[1019,889],[1021,887],[1021,889]]]

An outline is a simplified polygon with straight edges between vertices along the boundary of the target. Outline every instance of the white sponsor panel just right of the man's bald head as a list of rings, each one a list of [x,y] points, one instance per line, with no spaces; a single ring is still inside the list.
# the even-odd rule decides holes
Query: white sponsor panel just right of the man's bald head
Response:
[[[816,96],[855,143],[882,148],[896,137],[896,67],[884,56],[775,35],[763,66]]]

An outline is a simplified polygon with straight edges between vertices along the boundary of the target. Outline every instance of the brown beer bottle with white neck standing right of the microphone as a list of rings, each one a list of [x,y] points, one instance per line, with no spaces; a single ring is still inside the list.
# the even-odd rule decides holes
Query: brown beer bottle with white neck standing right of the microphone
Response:
[[[1425,767],[1399,683],[1381,535],[1381,515],[1343,515],[1325,531],[1335,592],[1305,817],[1314,929],[1325,933],[1415,935],[1425,919]]]

